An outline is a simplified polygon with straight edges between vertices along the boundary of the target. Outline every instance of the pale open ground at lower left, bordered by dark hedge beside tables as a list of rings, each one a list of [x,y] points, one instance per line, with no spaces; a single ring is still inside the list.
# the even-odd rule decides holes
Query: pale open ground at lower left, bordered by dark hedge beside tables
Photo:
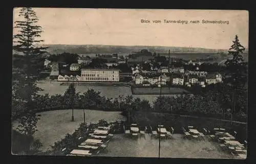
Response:
[[[35,139],[42,143],[42,151],[50,148],[54,142],[60,141],[67,133],[72,134],[83,122],[83,110],[74,110],[74,122],[71,121],[72,110],[48,111],[38,113],[41,115],[37,123],[38,131],[34,134]],[[99,119],[108,122],[126,120],[120,112],[104,112],[95,110],[86,110],[86,122],[89,124],[97,123]],[[13,123],[17,127],[17,121]]]

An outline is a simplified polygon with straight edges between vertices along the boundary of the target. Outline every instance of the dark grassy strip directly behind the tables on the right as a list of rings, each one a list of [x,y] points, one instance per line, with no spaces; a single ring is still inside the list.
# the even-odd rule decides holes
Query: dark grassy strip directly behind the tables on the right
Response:
[[[175,133],[183,133],[182,126],[195,126],[199,130],[203,128],[214,129],[215,127],[223,127],[228,130],[228,132],[233,133],[237,131],[236,138],[240,142],[244,142],[247,138],[247,126],[246,124],[224,122],[219,120],[211,120],[207,118],[189,118],[173,116],[168,113],[152,113],[152,112],[134,112],[131,115],[131,120],[137,122],[141,126],[156,126],[159,123],[165,125],[166,127],[174,127]]]

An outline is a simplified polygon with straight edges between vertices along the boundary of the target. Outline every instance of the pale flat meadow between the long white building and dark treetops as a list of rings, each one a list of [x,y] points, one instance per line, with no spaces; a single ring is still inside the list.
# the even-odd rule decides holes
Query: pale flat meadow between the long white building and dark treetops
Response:
[[[55,95],[60,94],[63,95],[65,91],[68,89],[69,86],[61,86],[61,83],[38,83],[37,86],[41,89],[44,89],[44,91],[38,92],[38,94],[46,94],[49,93],[49,95]],[[105,96],[106,98],[118,98],[119,95],[127,96],[132,95],[134,98],[140,98],[140,99],[146,99],[150,101],[151,104],[153,104],[153,101],[159,96],[159,95],[133,95],[132,90],[130,87],[126,86],[76,86],[76,92],[80,92],[80,94],[87,92],[89,89],[93,89],[96,92],[100,92],[101,96]],[[111,92],[110,92],[111,91]],[[164,95],[163,95],[164,96]],[[177,96],[177,95],[165,95],[165,96]]]

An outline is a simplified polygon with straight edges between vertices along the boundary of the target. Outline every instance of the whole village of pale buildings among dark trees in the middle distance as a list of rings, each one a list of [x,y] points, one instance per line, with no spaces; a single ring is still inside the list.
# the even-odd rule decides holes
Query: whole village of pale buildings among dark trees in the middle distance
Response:
[[[15,51],[13,53],[13,73],[15,73],[17,69],[15,64],[23,56]],[[247,58],[246,54],[244,56]],[[231,58],[227,52],[156,53],[147,49],[126,54],[103,52],[94,55],[48,52],[42,55],[44,66],[38,80],[123,82],[151,86],[161,77],[164,81],[163,85],[168,81],[176,87],[191,87],[196,84],[205,87],[222,82],[225,73],[224,62]]]

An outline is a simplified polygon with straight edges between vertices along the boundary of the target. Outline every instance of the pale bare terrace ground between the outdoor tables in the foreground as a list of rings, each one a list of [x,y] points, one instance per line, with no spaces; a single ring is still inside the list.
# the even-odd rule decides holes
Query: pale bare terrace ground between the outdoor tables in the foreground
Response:
[[[208,140],[193,142],[184,140],[181,134],[173,134],[173,140],[161,141],[160,157],[167,158],[232,158],[215,143]],[[130,139],[124,134],[115,134],[106,152],[98,156],[112,157],[158,157],[159,140],[151,139],[146,134],[145,139]]]

